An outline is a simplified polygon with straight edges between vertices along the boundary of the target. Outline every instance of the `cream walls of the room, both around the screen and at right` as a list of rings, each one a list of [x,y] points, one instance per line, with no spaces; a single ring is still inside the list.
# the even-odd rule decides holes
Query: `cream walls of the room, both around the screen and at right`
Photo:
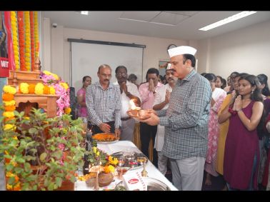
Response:
[[[143,81],[147,69],[151,67],[158,69],[159,60],[169,60],[166,51],[169,44],[194,46],[198,49],[196,59],[198,59],[199,73],[211,72],[226,78],[232,71],[239,71],[254,75],[266,74],[270,79],[270,21],[200,41],[69,29],[61,25],[57,28],[51,28],[50,23],[49,19],[44,21],[44,32],[41,33],[51,34],[51,36],[43,36],[44,44],[41,49],[43,49],[45,60],[41,60],[44,61],[44,64],[41,64],[42,69],[59,74],[68,83],[70,83],[70,43],[67,41],[68,38],[146,45]],[[50,58],[51,63],[49,62]],[[50,68],[48,68],[49,65],[51,65]],[[129,74],[131,73],[129,72]],[[96,72],[93,74],[96,76]]]

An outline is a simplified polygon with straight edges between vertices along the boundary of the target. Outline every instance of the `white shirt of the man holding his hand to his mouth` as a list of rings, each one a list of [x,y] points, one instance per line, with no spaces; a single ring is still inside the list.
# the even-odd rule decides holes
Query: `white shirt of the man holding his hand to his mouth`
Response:
[[[114,85],[119,86],[117,81],[114,83]],[[141,100],[141,96],[140,96],[138,87],[135,84],[132,84],[131,82],[126,81],[126,87],[127,87],[127,90],[129,91],[129,93],[131,93],[133,96],[138,97]],[[122,94],[121,94],[121,104],[122,104],[121,118],[129,117],[126,114],[126,111],[129,111],[129,107],[130,107],[129,101],[130,101],[129,97],[126,96],[126,94],[124,92],[122,92]]]

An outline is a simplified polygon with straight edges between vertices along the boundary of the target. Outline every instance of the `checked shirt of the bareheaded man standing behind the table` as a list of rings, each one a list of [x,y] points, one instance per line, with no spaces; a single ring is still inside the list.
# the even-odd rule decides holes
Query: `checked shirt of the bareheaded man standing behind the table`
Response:
[[[97,81],[86,89],[86,106],[93,125],[115,121],[115,128],[121,126],[121,99],[119,86],[109,84],[108,89],[102,89]]]

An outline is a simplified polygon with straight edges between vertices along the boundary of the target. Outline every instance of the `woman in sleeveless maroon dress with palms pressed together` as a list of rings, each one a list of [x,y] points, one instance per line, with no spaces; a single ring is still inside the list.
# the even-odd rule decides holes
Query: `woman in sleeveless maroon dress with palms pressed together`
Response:
[[[259,80],[254,75],[239,79],[239,96],[219,116],[230,120],[224,153],[224,179],[229,190],[258,188],[259,137],[256,127],[264,110]]]

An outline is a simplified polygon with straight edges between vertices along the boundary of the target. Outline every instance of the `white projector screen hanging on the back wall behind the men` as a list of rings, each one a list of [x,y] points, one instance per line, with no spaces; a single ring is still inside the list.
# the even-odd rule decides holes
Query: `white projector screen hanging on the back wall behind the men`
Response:
[[[138,83],[141,82],[144,45],[81,39],[68,41],[71,41],[71,85],[76,92],[81,89],[84,76],[91,76],[92,84],[99,81],[97,71],[101,64],[111,66],[113,83],[116,81],[115,69],[119,65],[126,66],[128,74],[135,74]]]

